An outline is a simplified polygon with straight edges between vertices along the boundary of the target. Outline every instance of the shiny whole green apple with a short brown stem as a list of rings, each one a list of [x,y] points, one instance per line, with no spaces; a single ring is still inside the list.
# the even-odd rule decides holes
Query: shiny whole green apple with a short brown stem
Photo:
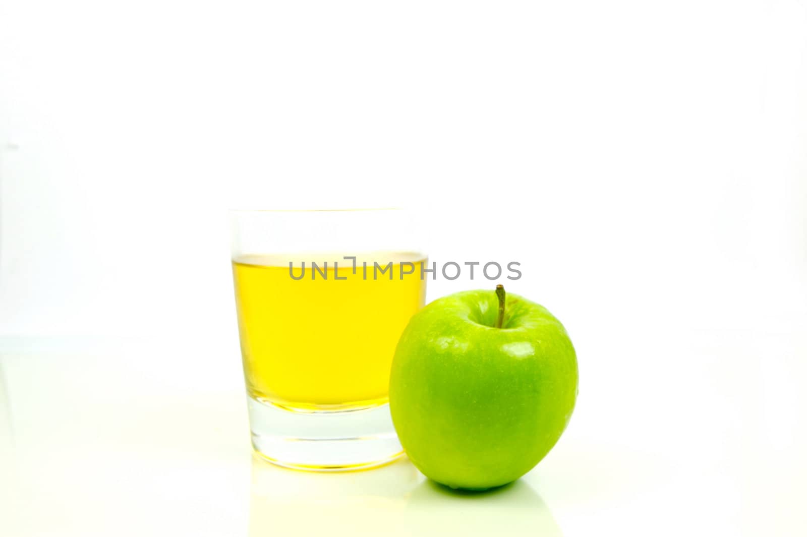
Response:
[[[412,464],[455,489],[515,481],[546,456],[577,398],[563,325],[515,294],[465,291],[415,314],[395,349],[390,410]]]

